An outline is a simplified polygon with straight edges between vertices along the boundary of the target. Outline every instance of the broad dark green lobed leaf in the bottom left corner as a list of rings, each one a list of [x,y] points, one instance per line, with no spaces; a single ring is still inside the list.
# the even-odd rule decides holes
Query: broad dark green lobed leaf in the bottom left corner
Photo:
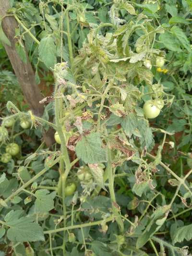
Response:
[[[15,242],[36,242],[45,241],[42,228],[29,217],[21,217],[22,210],[11,210],[6,216],[5,221],[10,228],[7,237]]]

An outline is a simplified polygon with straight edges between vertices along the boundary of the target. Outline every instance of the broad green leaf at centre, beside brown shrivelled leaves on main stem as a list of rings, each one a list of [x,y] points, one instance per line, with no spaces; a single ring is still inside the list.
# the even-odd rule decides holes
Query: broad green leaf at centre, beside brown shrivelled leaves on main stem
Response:
[[[102,140],[99,133],[91,133],[83,136],[75,147],[78,158],[85,163],[94,164],[106,162],[107,150],[102,147]]]

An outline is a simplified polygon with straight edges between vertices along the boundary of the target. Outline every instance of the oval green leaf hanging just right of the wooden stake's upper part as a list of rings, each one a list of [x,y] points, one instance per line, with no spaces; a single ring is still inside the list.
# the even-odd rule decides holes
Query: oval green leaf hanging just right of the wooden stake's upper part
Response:
[[[39,44],[39,57],[48,68],[54,68],[57,62],[57,49],[52,37],[43,37]]]

